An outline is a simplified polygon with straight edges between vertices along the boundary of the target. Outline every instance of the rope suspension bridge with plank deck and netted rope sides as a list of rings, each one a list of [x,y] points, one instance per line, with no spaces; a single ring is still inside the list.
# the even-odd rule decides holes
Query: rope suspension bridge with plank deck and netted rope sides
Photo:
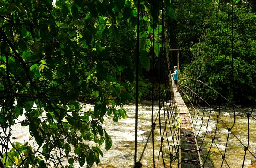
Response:
[[[197,46],[197,51],[195,52],[196,54],[186,71],[179,74],[179,92],[174,92],[176,90],[176,86],[174,85],[171,78],[172,76],[170,75],[172,73],[171,67],[173,67],[173,63],[170,61],[169,54],[164,50],[159,51],[161,53],[159,53],[159,57],[157,59],[161,64],[162,60],[164,60],[164,65],[162,67],[165,67],[166,72],[163,76],[169,76],[169,78],[167,79],[167,85],[163,84],[163,86],[161,86],[159,84],[159,90],[155,91],[158,92],[159,97],[161,97],[160,95],[163,96],[162,99],[159,98],[159,110],[156,117],[154,114],[155,111],[153,110],[155,103],[154,100],[152,100],[152,127],[143,151],[137,151],[136,148],[138,143],[138,125],[136,124],[138,120],[138,101],[136,101],[134,168],[143,167],[140,161],[144,155],[144,150],[146,149],[149,140],[152,141],[153,146],[152,159],[154,168],[256,167],[254,164],[256,160],[256,151],[255,147],[252,146],[252,141],[255,140],[253,139],[253,136],[255,137],[255,133],[250,129],[252,124],[256,124],[254,104],[252,105],[252,108],[248,110],[241,109],[238,105],[233,103],[233,100],[229,100],[215,88],[209,87],[207,77],[202,77],[203,67],[207,64],[211,64],[211,61],[215,61],[214,63],[217,64],[218,55],[220,55],[220,51],[218,51],[218,44],[215,44],[215,46],[212,47],[212,50],[206,51],[205,49],[205,44],[207,43],[206,37],[217,36],[212,34],[212,32],[214,32],[214,28],[208,28],[208,25],[213,25],[215,22],[219,21],[216,15],[220,10],[219,6],[221,6],[221,4],[217,4],[213,1],[204,25],[202,36],[200,37]],[[228,9],[232,10],[232,3],[230,3],[230,7]],[[232,11],[229,11],[229,13],[231,12]],[[212,15],[213,18],[211,21],[208,20],[210,15]],[[233,16],[228,17],[228,22],[232,23],[232,17]],[[233,28],[231,23],[228,23],[227,27],[228,31],[232,32]],[[217,27],[215,27],[215,29],[217,29]],[[219,31],[221,32],[221,30]],[[163,37],[163,41],[167,41],[165,40],[166,37],[164,32],[165,28],[163,26],[163,34],[159,36]],[[226,34],[226,38],[230,38],[230,33]],[[137,39],[139,40],[139,34],[137,35]],[[137,48],[139,48],[139,46],[137,46]],[[231,48],[233,53],[233,46],[231,46]],[[174,50],[178,52],[180,51],[180,49]],[[139,54],[137,56],[139,57]],[[226,67],[225,64],[223,64],[223,66],[224,68]],[[162,69],[158,69],[159,72],[162,72],[161,70]],[[223,76],[223,79],[217,79],[216,77],[216,80],[224,81],[225,75]],[[161,81],[161,79],[159,79],[159,81]],[[162,90],[160,88],[162,88]],[[210,89],[211,93],[206,94],[206,88],[207,90]],[[154,94],[154,81],[152,90]],[[255,95],[255,93],[252,94]],[[209,98],[206,97],[206,95],[212,95],[212,97]],[[219,104],[213,105],[213,99],[216,99],[216,97],[219,100]],[[231,123],[226,119],[227,109],[221,106],[221,102],[224,100],[230,104],[229,108],[231,112],[228,113],[228,118],[229,120],[233,120]],[[253,102],[255,102],[255,97]],[[241,122],[238,120],[239,117],[244,119],[242,124],[247,125],[247,129],[242,131],[239,129],[241,127]],[[159,148],[159,153],[155,153],[154,149],[156,144],[154,141],[154,130],[157,129],[160,132],[161,139],[160,145],[157,146],[157,148]],[[232,144],[235,144],[235,147],[234,145],[232,146],[231,142]],[[236,159],[232,159],[232,155],[230,155],[234,152],[237,153]],[[137,155],[139,156],[139,153],[141,155],[139,159],[137,159]],[[160,156],[162,156],[162,159]],[[218,161],[216,162],[216,160]]]

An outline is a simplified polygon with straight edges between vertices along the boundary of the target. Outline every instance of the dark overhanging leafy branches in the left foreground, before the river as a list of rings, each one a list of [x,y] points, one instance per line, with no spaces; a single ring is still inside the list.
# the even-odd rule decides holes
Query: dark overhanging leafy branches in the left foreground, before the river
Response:
[[[161,25],[152,21],[159,16],[159,3],[140,1],[139,23],[136,3],[0,1],[1,168],[99,163],[99,146],[112,145],[101,126],[104,117],[126,117],[122,105],[135,99],[135,65],[139,75],[149,70],[148,53],[160,33]],[[170,1],[163,4],[172,16]],[[142,79],[139,86],[146,85]],[[139,89],[139,96],[144,92]],[[84,108],[89,103],[94,108]],[[36,144],[12,143],[15,124],[29,129]]]

